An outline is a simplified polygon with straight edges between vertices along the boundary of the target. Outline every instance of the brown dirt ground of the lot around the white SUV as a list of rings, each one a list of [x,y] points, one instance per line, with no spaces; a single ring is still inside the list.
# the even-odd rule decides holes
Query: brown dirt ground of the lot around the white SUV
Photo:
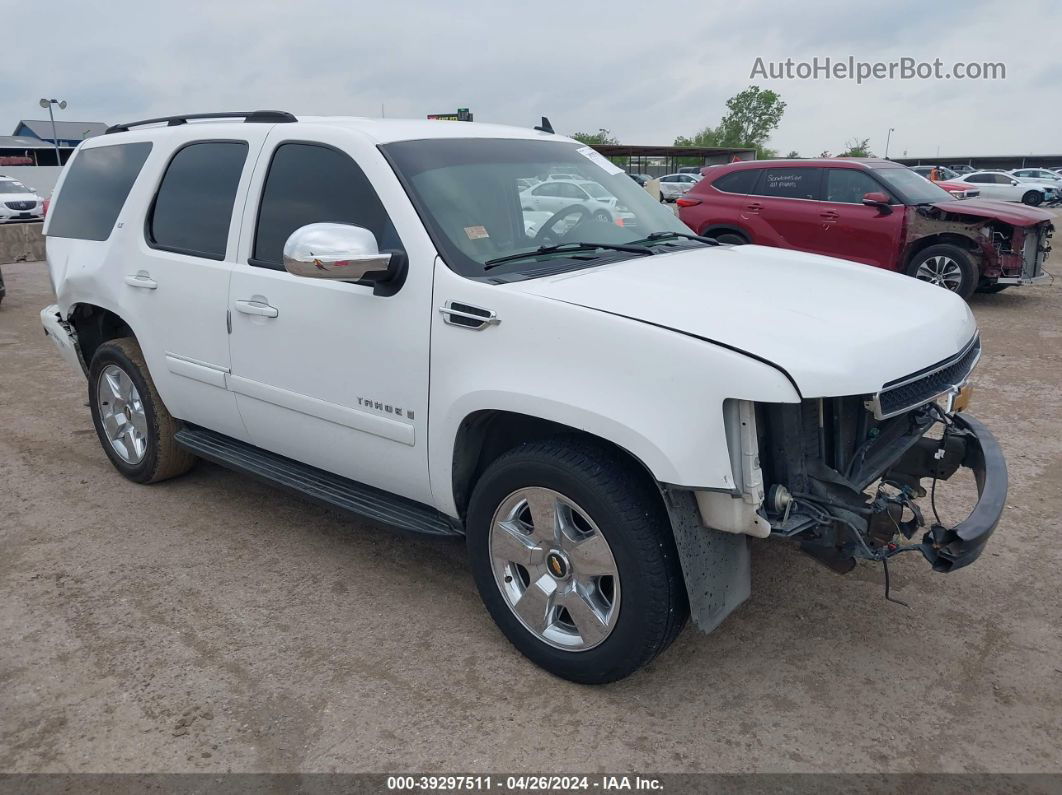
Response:
[[[1062,280],[973,301],[1011,472],[975,566],[901,556],[905,609],[757,541],[719,630],[595,689],[510,647],[460,543],[205,464],[124,481],[44,264],[3,273],[0,771],[1062,771]]]

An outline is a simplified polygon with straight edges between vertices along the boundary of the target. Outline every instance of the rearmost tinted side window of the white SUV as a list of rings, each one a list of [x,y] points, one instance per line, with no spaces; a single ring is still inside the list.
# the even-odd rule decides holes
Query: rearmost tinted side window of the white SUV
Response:
[[[136,182],[151,143],[118,143],[83,149],[70,163],[49,211],[52,238],[106,240]]]

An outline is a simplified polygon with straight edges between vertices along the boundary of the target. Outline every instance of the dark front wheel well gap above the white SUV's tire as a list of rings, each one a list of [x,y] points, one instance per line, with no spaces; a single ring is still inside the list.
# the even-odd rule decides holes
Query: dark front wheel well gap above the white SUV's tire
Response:
[[[527,414],[496,410],[478,411],[462,420],[453,444],[453,501],[462,519],[476,482],[494,461],[520,445],[556,436],[581,436],[594,439],[633,463],[639,471],[652,480],[654,485],[656,483],[656,479],[641,461],[600,436]]]

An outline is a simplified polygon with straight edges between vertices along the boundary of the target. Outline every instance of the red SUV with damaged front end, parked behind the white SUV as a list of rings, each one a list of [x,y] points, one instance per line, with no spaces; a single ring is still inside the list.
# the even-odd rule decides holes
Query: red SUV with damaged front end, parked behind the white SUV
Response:
[[[721,243],[823,254],[970,297],[1049,278],[1055,230],[1044,210],[958,201],[905,166],[878,159],[752,160],[703,170],[679,218]]]

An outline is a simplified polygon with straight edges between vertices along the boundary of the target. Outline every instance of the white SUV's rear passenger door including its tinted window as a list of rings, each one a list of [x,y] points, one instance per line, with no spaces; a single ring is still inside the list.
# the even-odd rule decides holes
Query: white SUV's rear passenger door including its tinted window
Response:
[[[209,140],[195,139],[188,126],[175,146],[157,148],[165,165],[153,172],[159,176],[136,231],[139,250],[123,275],[123,305],[170,412],[246,438],[226,388],[226,310],[239,236],[234,210],[242,209],[238,197],[268,126],[233,124],[230,135]]]

